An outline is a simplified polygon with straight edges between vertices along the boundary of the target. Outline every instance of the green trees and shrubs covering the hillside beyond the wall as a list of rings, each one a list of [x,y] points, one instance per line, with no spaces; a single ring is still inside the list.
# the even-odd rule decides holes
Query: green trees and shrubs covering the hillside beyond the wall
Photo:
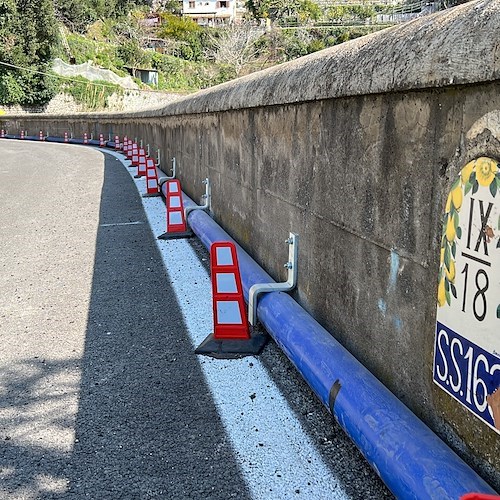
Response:
[[[51,70],[56,57],[92,61],[120,76],[130,68],[155,69],[154,90],[191,92],[380,29],[374,16],[387,9],[373,2],[320,8],[312,0],[248,0],[245,19],[214,28],[183,18],[181,6],[0,0],[0,105],[43,105],[64,92],[95,109],[120,92],[106,82],[58,77]]]

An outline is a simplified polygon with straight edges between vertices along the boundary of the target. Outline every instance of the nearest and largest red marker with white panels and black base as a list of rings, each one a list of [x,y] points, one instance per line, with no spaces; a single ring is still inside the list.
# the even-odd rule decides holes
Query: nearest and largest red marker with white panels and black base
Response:
[[[196,349],[196,354],[214,358],[239,358],[258,354],[267,337],[261,333],[250,335],[234,243],[222,241],[212,244],[210,274],[214,332]]]

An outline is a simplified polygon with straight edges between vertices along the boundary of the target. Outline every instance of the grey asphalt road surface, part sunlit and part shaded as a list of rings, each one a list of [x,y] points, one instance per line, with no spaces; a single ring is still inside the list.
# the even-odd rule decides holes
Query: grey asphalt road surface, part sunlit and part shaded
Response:
[[[1,499],[255,497],[119,161],[0,141],[0,256]],[[390,498],[274,344],[259,363],[345,498]]]

